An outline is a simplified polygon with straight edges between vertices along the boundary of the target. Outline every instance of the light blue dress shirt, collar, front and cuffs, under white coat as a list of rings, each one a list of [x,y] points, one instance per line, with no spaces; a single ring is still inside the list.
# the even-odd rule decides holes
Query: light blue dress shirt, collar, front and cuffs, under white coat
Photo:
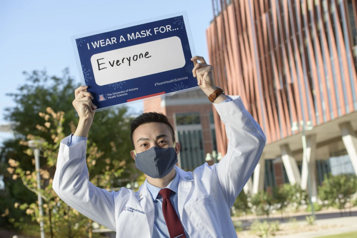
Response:
[[[227,97],[227,99],[220,103],[232,101],[232,99],[229,96],[226,95],[226,97]],[[87,137],[74,136],[73,134],[71,134],[69,137],[67,146],[68,147],[74,146],[75,144],[77,144],[81,141],[84,141],[86,139],[87,139]],[[172,203],[172,206],[174,206],[174,208],[175,208],[177,216],[179,216],[178,215],[178,199],[177,199],[177,190],[178,190],[179,180],[180,180],[180,178],[178,177],[178,173],[176,173],[175,178],[172,179],[172,181],[166,187],[173,191],[170,195],[170,201]],[[155,220],[154,220],[154,230],[153,230],[152,237],[170,238],[169,230],[167,229],[165,218],[164,218],[164,213],[162,213],[162,197],[159,194],[159,192],[162,188],[156,187],[156,186],[148,183],[147,181],[146,181],[146,186],[151,194],[151,198],[152,198],[152,201],[154,201],[154,206],[155,206],[155,218],[154,218]],[[186,238],[189,238],[185,228],[183,228],[183,231],[185,231]]]

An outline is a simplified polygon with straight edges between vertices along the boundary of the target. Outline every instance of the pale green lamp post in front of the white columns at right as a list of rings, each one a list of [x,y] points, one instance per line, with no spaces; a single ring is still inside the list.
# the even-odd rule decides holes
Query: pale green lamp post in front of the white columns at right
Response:
[[[306,155],[306,136],[305,136],[305,131],[311,131],[313,129],[313,126],[311,125],[311,121],[307,121],[306,125],[304,121],[300,121],[300,125],[302,126],[302,134],[301,134],[301,139],[302,139],[302,151],[303,151],[303,158],[305,159],[305,163],[307,164],[307,184],[309,188],[309,198],[310,198],[310,206],[311,206],[311,214],[314,216],[314,207],[312,203],[312,196],[311,196],[311,178],[310,178],[310,161],[307,161],[307,155]],[[298,131],[299,127],[297,125],[297,122],[292,123],[291,127],[292,131]]]

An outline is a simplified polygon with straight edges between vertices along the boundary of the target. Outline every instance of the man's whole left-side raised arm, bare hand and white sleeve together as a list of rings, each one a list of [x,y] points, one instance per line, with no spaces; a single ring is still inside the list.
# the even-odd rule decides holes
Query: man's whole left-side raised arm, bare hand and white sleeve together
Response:
[[[73,106],[79,115],[74,136],[87,137],[95,114],[87,86],[75,90]],[[87,140],[69,146],[71,136],[61,141],[52,187],[69,206],[86,217],[115,231],[114,192],[100,189],[89,182],[86,164]]]

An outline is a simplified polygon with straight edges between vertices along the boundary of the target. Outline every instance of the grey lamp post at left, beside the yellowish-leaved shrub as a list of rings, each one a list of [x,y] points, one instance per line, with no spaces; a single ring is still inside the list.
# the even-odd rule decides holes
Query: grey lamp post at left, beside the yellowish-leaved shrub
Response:
[[[41,144],[43,141],[41,140],[30,140],[28,141],[29,147],[34,151],[35,156],[35,168],[37,173],[37,199],[39,201],[39,214],[40,214],[40,231],[41,231],[41,238],[45,238],[45,231],[44,231],[44,221],[43,216],[44,213],[42,211],[42,198],[41,198],[41,177],[40,177],[40,149]]]

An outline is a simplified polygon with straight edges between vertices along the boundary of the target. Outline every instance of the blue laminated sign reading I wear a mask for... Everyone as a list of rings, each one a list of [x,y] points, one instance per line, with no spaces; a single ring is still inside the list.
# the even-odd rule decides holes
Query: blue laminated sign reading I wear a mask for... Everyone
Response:
[[[97,111],[197,88],[186,12],[72,37]]]

